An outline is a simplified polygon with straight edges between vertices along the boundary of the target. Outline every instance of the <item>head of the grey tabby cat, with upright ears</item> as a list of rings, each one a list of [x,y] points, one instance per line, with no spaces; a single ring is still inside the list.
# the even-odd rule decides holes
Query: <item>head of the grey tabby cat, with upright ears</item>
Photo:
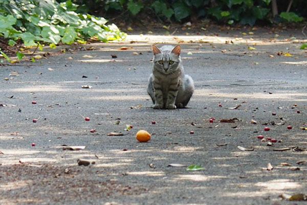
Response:
[[[158,48],[152,45],[153,63],[155,68],[159,69],[162,73],[168,74],[176,71],[179,68],[179,63],[181,61],[179,45],[173,46],[162,46]]]

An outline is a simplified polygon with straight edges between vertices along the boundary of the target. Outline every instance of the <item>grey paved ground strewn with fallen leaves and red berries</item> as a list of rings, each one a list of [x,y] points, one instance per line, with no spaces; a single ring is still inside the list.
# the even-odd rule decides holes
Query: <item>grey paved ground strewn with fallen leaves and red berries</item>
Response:
[[[0,203],[277,205],[290,203],[281,194],[307,194],[307,162],[297,163],[307,161],[307,131],[300,129],[307,127],[303,35],[242,32],[250,30],[130,35],[123,43],[63,46],[64,54],[1,67]],[[182,45],[183,65],[195,81],[187,109],[151,108],[152,43]],[[126,125],[133,128],[124,131]],[[152,133],[149,142],[136,140],[141,129]],[[267,146],[258,135],[279,142]],[[274,151],[281,148],[290,150]],[[77,159],[95,164],[78,166]]]

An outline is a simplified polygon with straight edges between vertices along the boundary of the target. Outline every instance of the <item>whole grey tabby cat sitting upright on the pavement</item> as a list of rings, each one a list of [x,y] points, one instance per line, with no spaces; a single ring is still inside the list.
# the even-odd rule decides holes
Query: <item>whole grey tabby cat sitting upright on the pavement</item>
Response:
[[[177,45],[152,45],[153,68],[148,79],[147,92],[153,103],[153,109],[185,108],[193,91],[193,79],[184,74],[180,52]]]

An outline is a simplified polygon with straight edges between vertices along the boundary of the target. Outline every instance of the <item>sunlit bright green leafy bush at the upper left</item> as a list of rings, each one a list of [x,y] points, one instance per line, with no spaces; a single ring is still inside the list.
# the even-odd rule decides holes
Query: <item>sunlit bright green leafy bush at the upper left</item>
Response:
[[[54,47],[60,42],[73,44],[91,37],[103,42],[125,38],[114,24],[106,25],[107,20],[103,17],[79,14],[75,12],[77,9],[78,5],[70,0],[60,4],[54,0],[2,0],[0,35],[10,39],[10,46],[21,39],[27,47],[39,46],[38,42],[47,42]],[[22,58],[20,54],[18,56]]]

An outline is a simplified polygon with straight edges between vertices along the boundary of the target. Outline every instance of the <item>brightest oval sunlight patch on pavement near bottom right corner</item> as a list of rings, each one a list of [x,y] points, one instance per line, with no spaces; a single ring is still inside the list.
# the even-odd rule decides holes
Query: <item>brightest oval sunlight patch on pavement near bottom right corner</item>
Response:
[[[262,187],[267,190],[284,190],[284,189],[298,189],[301,185],[291,179],[274,179],[270,181],[263,181],[255,183],[255,186]]]

